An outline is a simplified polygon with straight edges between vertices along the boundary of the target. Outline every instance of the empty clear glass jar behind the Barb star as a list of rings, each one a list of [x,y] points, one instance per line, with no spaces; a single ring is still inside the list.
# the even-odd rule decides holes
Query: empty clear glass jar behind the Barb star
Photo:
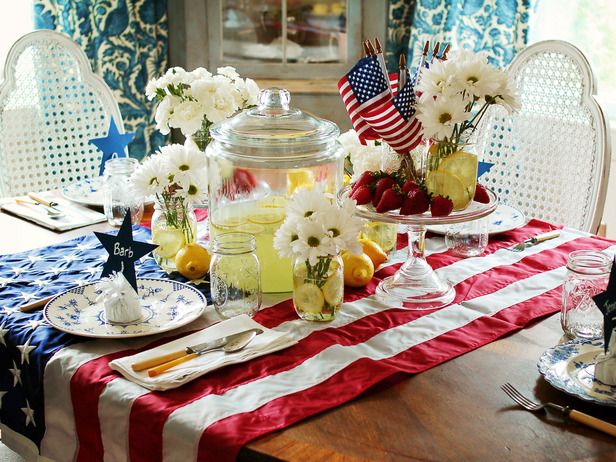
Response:
[[[130,211],[133,224],[141,223],[143,200],[133,193],[130,176],[139,161],[130,157],[118,157],[105,162],[105,201],[104,211],[111,226],[120,226],[127,211]]]

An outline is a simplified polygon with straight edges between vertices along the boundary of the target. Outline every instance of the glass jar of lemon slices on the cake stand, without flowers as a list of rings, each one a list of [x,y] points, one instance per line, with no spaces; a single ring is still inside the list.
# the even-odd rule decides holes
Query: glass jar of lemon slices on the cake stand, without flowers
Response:
[[[464,210],[473,200],[477,185],[477,155],[474,145],[434,140],[426,158],[426,188],[449,197],[454,210]]]

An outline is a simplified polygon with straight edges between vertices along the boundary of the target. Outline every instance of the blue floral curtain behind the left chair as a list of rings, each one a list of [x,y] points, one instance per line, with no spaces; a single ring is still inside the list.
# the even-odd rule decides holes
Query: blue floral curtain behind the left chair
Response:
[[[37,29],[72,37],[118,101],[127,132],[136,132],[131,157],[164,144],[155,129],[155,102],[145,86],[167,67],[166,0],[34,0]]]

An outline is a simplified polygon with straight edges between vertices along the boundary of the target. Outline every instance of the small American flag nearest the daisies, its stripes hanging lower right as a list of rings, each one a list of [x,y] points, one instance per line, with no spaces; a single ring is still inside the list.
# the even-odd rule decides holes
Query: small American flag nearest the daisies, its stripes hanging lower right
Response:
[[[415,89],[408,78],[406,85],[391,100],[373,111],[362,111],[361,117],[399,154],[409,152],[421,142],[423,127],[415,117]]]

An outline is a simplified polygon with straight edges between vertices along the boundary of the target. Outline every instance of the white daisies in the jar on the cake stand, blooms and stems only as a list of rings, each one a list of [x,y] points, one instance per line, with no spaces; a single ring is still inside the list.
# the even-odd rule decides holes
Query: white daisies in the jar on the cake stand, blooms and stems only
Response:
[[[492,105],[508,112],[519,108],[515,87],[504,70],[488,63],[483,54],[460,50],[448,60],[434,60],[421,73],[417,118],[424,137],[438,142],[439,157],[468,143]]]

